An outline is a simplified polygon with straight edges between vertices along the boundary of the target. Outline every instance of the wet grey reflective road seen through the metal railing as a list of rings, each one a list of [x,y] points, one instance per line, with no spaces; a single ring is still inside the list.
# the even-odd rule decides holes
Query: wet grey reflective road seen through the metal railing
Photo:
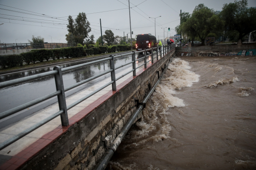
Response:
[[[131,55],[117,58],[115,59],[115,67],[124,65],[125,63],[128,63],[128,62],[131,62]],[[73,62],[73,63],[70,62],[70,63],[62,64],[60,66],[61,68],[65,68],[65,67],[69,67],[69,66],[73,66],[81,63],[84,63],[84,61]],[[116,73],[119,73],[120,71],[129,67],[132,69],[132,64],[119,68],[118,70],[116,70]],[[53,68],[54,66],[1,75],[0,82],[8,81],[11,79],[17,79],[21,77],[26,77],[34,74],[44,73],[47,71],[52,71]],[[84,79],[88,79],[90,77],[93,77],[97,74],[100,74],[108,70],[110,70],[110,64],[109,64],[109,61],[105,61],[105,62],[100,62],[94,65],[74,69],[72,71],[64,72],[63,73],[64,87],[68,87]],[[66,92],[66,97],[76,93],[77,91],[88,88],[91,85],[94,85],[97,82],[107,77],[110,77],[110,73]],[[54,76],[44,77],[44,78],[36,79],[30,82],[21,83],[19,85],[2,88],[0,89],[0,103],[1,103],[0,113],[7,111],[11,108],[17,107],[19,105],[22,105],[24,103],[30,102],[34,99],[38,99],[42,96],[46,96],[47,94],[53,93],[54,91],[56,91]],[[56,102],[57,101],[56,98],[57,97],[55,97],[55,100],[53,100],[51,103],[48,103],[47,105]]]

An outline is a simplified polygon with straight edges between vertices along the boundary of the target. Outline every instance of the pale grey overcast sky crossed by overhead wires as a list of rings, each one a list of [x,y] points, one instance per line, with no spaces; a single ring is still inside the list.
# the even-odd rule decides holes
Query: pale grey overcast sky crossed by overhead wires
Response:
[[[167,27],[166,37],[168,28],[174,29],[180,24],[180,10],[191,14],[195,6],[204,3],[209,8],[221,11],[223,4],[230,2],[234,0],[130,0],[130,7],[133,7],[132,37],[136,34],[155,34],[154,19],[148,17],[161,16],[156,19],[156,37],[163,39],[162,28]],[[89,35],[94,34],[95,40],[100,36],[100,18],[104,27],[102,34],[107,29],[119,36],[123,36],[124,32],[125,35],[130,33],[128,0],[0,0],[0,4],[0,24],[4,23],[0,25],[1,43],[15,43],[16,39],[17,43],[28,42],[32,35],[43,37],[45,42],[65,43],[67,17],[71,15],[75,19],[79,12],[87,14],[92,28]],[[256,0],[248,0],[248,7],[256,7]],[[174,34],[174,30],[168,31],[168,36]]]

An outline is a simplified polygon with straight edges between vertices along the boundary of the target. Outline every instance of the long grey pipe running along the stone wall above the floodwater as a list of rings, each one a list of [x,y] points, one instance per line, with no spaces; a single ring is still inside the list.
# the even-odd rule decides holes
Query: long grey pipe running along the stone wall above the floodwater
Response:
[[[137,111],[134,113],[134,115],[129,119],[128,123],[126,124],[125,127],[123,127],[122,132],[116,137],[116,139],[113,141],[113,144],[111,145],[111,147],[108,148],[107,152],[105,153],[104,158],[102,158],[101,162],[98,164],[98,167],[96,168],[96,170],[104,170],[107,165],[108,162],[110,161],[111,157],[113,156],[114,152],[116,151],[117,147],[119,146],[119,144],[122,142],[122,139],[125,137],[126,133],[128,132],[128,130],[131,128],[131,125],[134,123],[134,121],[136,120],[137,116],[139,115],[139,113],[142,111],[144,103],[146,103],[149,99],[149,97],[151,96],[151,94],[154,92],[155,88],[157,87],[157,85],[159,84],[159,82],[161,81],[163,74],[166,72],[169,63],[172,62],[172,59],[170,59],[170,61],[168,62],[168,64],[166,65],[166,68],[163,70],[163,73],[161,74],[161,76],[159,77],[157,83],[154,85],[154,87],[151,89],[151,91],[149,92],[149,94],[145,97],[145,99],[143,100],[143,103],[141,103],[139,105],[139,107],[137,108]]]

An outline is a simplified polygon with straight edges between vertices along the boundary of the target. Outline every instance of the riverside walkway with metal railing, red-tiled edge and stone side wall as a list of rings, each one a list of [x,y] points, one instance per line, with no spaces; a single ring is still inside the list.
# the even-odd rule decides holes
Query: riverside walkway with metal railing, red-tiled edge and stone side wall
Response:
[[[144,56],[136,59],[139,52],[144,52]],[[54,97],[58,101],[1,129],[0,170],[104,169],[131,125],[140,119],[174,54],[175,45],[166,45],[160,50],[151,48],[111,55],[0,82],[0,88],[6,88],[54,76],[56,87],[53,93],[0,113],[1,121],[22,115]],[[116,59],[127,56],[130,61],[116,65]],[[107,62],[110,69],[64,87],[65,72],[100,62]],[[100,79],[107,74],[110,76]],[[95,79],[100,82],[90,85]],[[84,84],[88,84],[87,88],[67,95]]]

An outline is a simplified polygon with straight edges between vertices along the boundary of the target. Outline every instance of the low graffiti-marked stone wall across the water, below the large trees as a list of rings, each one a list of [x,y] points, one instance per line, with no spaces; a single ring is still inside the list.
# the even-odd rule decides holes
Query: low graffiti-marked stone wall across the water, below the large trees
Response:
[[[243,45],[209,45],[176,47],[176,56],[234,56],[256,55],[256,43]]]

